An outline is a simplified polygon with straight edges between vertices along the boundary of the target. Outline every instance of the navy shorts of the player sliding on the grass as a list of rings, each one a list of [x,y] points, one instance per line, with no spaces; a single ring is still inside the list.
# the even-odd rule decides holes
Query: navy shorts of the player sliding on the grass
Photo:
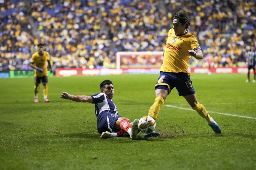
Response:
[[[116,115],[113,113],[105,112],[100,113],[97,119],[97,130],[101,134],[102,132],[116,132],[114,129],[114,126],[116,124],[116,121],[119,117],[122,117],[120,115]]]

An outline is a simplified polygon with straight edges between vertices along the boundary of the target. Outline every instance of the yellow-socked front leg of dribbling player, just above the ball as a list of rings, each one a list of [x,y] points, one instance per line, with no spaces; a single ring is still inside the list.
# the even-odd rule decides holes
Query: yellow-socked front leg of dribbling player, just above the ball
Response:
[[[150,107],[148,111],[148,116],[153,119],[157,119],[157,115],[159,113],[160,108],[164,104],[164,101],[168,95],[168,91],[165,89],[156,89],[156,98],[155,103]]]

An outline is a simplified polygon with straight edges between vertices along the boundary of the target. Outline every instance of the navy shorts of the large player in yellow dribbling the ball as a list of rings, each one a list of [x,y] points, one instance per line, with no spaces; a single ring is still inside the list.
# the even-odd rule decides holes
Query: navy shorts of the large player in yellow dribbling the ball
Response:
[[[160,76],[155,85],[155,89],[166,89],[168,94],[176,87],[179,95],[192,95],[195,90],[192,86],[192,81],[186,73],[167,73],[160,72]]]

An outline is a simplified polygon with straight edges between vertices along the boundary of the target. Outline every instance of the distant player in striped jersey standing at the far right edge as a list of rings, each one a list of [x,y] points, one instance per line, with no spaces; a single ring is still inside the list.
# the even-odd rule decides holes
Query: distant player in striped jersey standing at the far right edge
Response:
[[[255,83],[255,64],[256,64],[256,51],[255,47],[251,47],[251,50],[247,53],[247,62],[248,62],[248,73],[247,73],[247,80],[246,83],[250,82],[250,69],[253,69],[253,80],[252,82]]]

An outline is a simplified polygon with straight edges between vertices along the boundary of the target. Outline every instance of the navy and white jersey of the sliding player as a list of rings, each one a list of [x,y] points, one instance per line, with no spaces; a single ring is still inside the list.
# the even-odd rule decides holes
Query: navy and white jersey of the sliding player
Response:
[[[93,103],[95,104],[95,115],[98,118],[101,113],[113,113],[118,115],[116,105],[105,93],[97,93],[91,95]]]

